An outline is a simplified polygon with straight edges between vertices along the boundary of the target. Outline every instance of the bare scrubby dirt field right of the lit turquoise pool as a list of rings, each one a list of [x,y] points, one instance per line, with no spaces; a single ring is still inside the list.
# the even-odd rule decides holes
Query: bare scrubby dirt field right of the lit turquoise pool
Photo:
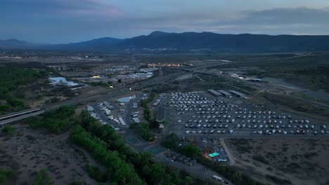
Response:
[[[226,139],[231,165],[266,184],[266,175],[289,179],[292,184],[328,184],[329,140]]]

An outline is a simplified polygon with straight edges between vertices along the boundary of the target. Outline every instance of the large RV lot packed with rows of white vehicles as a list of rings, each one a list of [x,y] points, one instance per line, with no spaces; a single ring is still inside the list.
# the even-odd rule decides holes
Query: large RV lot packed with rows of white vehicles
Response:
[[[240,103],[236,103],[240,102]],[[171,131],[180,135],[328,135],[327,123],[257,106],[239,97],[206,92],[171,93],[162,102]]]

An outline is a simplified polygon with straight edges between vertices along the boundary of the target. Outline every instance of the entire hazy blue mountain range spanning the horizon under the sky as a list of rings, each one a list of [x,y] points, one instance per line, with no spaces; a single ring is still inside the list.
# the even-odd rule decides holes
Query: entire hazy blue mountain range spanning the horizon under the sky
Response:
[[[0,40],[0,49],[110,51],[125,49],[219,50],[222,52],[291,52],[329,50],[329,36],[265,34],[166,33],[130,39],[104,37],[79,43],[35,44],[16,39]]]

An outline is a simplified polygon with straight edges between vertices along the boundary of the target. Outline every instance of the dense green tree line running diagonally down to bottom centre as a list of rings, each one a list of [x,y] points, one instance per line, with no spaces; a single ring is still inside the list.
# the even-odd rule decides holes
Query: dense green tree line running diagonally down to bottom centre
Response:
[[[130,164],[131,169],[138,174],[142,184],[192,184],[192,178],[181,174],[179,170],[171,170],[162,163],[153,162],[150,153],[138,153],[129,146],[126,146],[120,135],[117,135],[110,125],[101,125],[101,123],[89,116],[88,112],[82,111],[79,123],[85,129],[84,138],[93,136],[98,138],[99,143],[103,142],[103,146],[99,146],[100,151],[102,151],[101,148],[104,146],[107,146],[109,151],[117,151],[118,157],[127,164]],[[78,129],[79,132],[83,132],[82,128]],[[86,133],[90,134],[88,135]],[[82,142],[82,144],[85,143]],[[103,153],[103,155],[105,154]],[[122,184],[124,182],[118,181],[118,183]]]

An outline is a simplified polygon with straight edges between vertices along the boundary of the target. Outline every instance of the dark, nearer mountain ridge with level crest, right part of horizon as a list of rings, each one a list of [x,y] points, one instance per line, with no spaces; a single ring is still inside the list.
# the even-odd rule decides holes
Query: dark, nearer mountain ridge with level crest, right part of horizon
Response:
[[[177,48],[187,50],[205,48],[233,52],[329,50],[329,36],[153,32],[148,36],[127,39],[120,46],[122,48]]]

